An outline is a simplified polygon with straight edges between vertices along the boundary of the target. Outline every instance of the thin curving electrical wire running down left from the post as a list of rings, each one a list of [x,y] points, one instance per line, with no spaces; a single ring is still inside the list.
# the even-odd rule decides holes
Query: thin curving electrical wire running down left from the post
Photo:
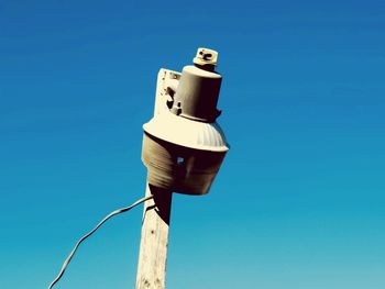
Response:
[[[99,222],[99,224],[94,227],[89,233],[87,233],[86,235],[84,235],[75,245],[75,247],[73,248],[73,251],[69,253],[68,257],[66,258],[66,260],[64,262],[63,264],[63,267],[62,267],[62,270],[59,271],[59,274],[57,275],[57,277],[55,278],[55,280],[52,281],[52,284],[50,285],[48,289],[52,289],[54,287],[55,284],[58,282],[58,280],[61,280],[64,271],[66,270],[70,259],[74,257],[75,255],[75,252],[77,251],[77,248],[79,247],[79,245],[87,238],[89,237],[90,235],[92,235],[107,220],[109,220],[110,218],[112,218],[113,215],[116,214],[120,214],[120,213],[124,213],[129,210],[131,210],[132,208],[136,207],[138,204],[141,204],[142,202],[145,202],[150,199],[153,199],[154,196],[147,196],[147,197],[144,197],[138,201],[135,201],[133,204],[129,205],[129,207],[125,207],[125,208],[121,208],[121,209],[118,209],[111,213],[109,213],[108,215],[105,216],[103,220],[101,220]]]

